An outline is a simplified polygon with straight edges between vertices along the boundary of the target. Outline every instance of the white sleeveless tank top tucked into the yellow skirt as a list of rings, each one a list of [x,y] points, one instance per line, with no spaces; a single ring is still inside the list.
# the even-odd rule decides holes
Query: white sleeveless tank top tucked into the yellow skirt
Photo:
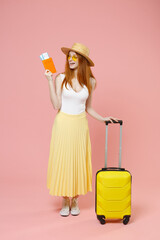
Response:
[[[60,76],[63,82],[65,74],[61,73]],[[75,92],[69,83],[67,83],[67,88],[63,84],[60,111],[68,114],[80,114],[84,112],[86,100],[89,96],[88,88],[83,84],[83,88],[79,92]]]

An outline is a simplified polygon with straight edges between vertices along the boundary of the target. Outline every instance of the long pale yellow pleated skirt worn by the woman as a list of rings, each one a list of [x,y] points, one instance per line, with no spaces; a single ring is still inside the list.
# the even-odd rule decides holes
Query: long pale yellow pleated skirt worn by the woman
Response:
[[[59,111],[52,127],[47,188],[54,196],[92,192],[91,141],[86,112]]]

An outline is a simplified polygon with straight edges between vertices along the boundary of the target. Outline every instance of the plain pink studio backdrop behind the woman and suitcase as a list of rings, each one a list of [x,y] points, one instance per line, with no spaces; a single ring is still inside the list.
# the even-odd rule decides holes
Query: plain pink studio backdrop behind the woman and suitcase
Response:
[[[0,2],[1,239],[158,239],[160,182],[160,1],[5,0]],[[56,115],[39,58],[64,71],[62,46],[85,44],[95,63],[93,108],[122,119],[122,167],[132,174],[128,225],[101,225],[95,175],[104,167],[105,124],[87,114],[93,191],[78,217],[60,216],[61,197],[46,187]],[[108,166],[118,165],[119,125],[109,125]],[[80,233],[80,234],[79,234]],[[159,234],[160,235],[160,234]]]

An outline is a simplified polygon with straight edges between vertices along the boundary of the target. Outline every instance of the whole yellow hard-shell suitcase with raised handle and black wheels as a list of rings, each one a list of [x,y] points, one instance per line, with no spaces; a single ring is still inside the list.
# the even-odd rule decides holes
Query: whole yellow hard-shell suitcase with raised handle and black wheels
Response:
[[[113,123],[120,124],[120,148],[119,167],[107,168],[107,135],[108,124],[106,121],[106,143],[105,143],[105,167],[96,173],[95,184],[95,212],[101,224],[106,223],[106,219],[123,219],[123,224],[127,224],[131,217],[131,173],[125,168],[121,168],[121,146],[122,146],[122,124],[113,120]]]

